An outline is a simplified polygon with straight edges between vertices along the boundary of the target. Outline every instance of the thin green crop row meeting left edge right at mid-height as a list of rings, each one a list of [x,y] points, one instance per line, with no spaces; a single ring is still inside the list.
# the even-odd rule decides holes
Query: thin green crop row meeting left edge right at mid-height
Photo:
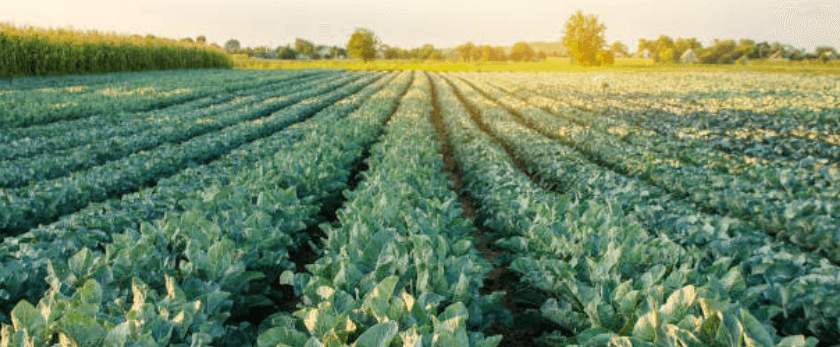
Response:
[[[251,109],[260,103],[274,99],[285,99],[282,100],[285,104],[280,103],[278,107],[290,105],[302,100],[302,98],[311,96],[312,94],[308,91],[310,88],[324,85],[333,80],[340,81],[340,77],[346,76],[336,75],[311,82],[290,81],[266,86],[259,91],[252,91],[251,95],[245,98],[181,113],[165,112],[163,114],[134,115],[146,123],[154,124],[154,126],[138,133],[111,137],[63,151],[50,151],[36,157],[2,161],[0,162],[0,187],[20,187],[34,184],[34,182],[50,180],[102,165],[133,153],[150,150],[163,144],[178,144],[196,136],[257,119],[264,116],[264,113],[251,112]],[[296,95],[302,92],[304,93]],[[131,125],[123,127],[131,127]],[[75,136],[62,136],[60,138],[75,138]]]

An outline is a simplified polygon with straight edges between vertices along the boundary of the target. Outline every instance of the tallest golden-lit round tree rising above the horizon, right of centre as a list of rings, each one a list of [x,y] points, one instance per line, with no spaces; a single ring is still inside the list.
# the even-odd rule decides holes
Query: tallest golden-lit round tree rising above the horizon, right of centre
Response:
[[[607,44],[604,32],[607,27],[594,14],[584,15],[577,10],[566,20],[563,45],[569,48],[574,60],[583,65],[597,64],[596,53]]]

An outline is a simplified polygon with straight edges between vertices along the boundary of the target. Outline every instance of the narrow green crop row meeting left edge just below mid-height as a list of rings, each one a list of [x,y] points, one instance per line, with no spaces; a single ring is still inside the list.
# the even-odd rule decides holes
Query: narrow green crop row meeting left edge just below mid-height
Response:
[[[363,74],[350,76],[359,78]],[[356,90],[323,94],[348,82],[348,79],[324,83],[286,98],[267,99],[241,110],[258,115],[252,121],[225,128],[224,131],[194,137],[180,144],[165,144],[120,160],[107,162],[85,171],[51,181],[42,181],[16,190],[0,189],[0,231],[17,234],[75,212],[90,202],[153,185],[162,177],[195,163],[204,163],[233,148],[272,134],[314,114]],[[308,98],[316,97],[315,100]],[[288,108],[295,104],[297,107]],[[277,112],[286,108],[282,112]]]

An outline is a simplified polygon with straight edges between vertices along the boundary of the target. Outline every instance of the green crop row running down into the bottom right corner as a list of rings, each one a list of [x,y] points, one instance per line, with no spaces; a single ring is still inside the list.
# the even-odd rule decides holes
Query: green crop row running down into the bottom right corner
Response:
[[[495,94],[492,88],[481,88]],[[577,199],[610,206],[697,254],[698,262],[728,271],[725,276],[717,275],[739,283],[737,288],[725,288],[729,297],[784,334],[813,335],[829,341],[840,336],[835,327],[840,322],[840,307],[834,303],[840,299],[836,294],[840,293],[836,280],[840,268],[779,243],[748,223],[702,213],[695,205],[644,181],[628,179],[589,162],[573,149],[520,124],[504,109],[527,109],[523,102],[502,97],[496,100],[500,105],[495,105],[481,101],[483,97],[470,89],[465,86],[462,91],[472,95],[471,102],[479,100],[475,102],[493,110],[482,112],[482,116],[495,135],[504,139],[544,182],[556,184]]]

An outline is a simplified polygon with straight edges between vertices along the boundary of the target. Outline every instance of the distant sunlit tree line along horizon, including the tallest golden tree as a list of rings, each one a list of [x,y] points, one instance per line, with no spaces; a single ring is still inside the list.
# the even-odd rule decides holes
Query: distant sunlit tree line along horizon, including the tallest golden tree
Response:
[[[224,45],[230,53],[242,53],[249,56],[274,59],[333,59],[354,57],[359,60],[372,59],[411,59],[411,60],[457,60],[464,62],[478,61],[518,61],[530,62],[545,60],[549,56],[568,57],[582,66],[612,65],[615,57],[629,56],[629,48],[620,41],[608,45],[604,37],[606,25],[594,14],[585,15],[578,10],[567,19],[560,42],[563,50],[544,52],[535,51],[526,42],[517,42],[511,48],[491,45],[476,45],[466,42],[453,50],[441,50],[432,44],[404,49],[385,44],[370,29],[356,28],[345,47],[316,45],[311,41],[297,38],[294,46],[285,45],[276,48],[267,46],[240,47],[239,41],[231,39]],[[201,41],[199,37],[196,42]],[[187,39],[192,43],[191,39]],[[206,39],[203,39],[206,41]],[[638,55],[645,52],[646,58],[656,62],[679,62],[685,52],[692,50],[697,62],[707,64],[731,64],[750,59],[777,58],[785,60],[822,60],[836,59],[837,51],[832,47],[817,47],[814,52],[806,53],[802,49],[778,42],[758,42],[741,39],[738,41],[715,40],[711,46],[703,47],[696,38],[676,38],[660,35],[655,40],[639,39]]]

